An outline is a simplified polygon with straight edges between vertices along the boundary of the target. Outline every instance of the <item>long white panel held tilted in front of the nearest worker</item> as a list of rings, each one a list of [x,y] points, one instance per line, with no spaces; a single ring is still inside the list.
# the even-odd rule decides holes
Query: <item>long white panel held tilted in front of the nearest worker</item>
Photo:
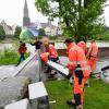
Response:
[[[69,69],[68,68],[64,68],[64,66],[60,65],[59,63],[56,63],[56,62],[52,62],[52,61],[47,61],[47,64],[50,68],[57,70],[62,75],[64,75],[64,76],[68,76],[69,75]]]

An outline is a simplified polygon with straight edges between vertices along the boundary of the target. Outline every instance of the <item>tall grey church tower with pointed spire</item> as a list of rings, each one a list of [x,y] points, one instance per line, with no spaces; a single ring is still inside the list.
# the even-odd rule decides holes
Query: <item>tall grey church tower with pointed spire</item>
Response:
[[[31,24],[31,20],[28,16],[28,8],[27,8],[27,1],[25,0],[24,4],[24,16],[23,16],[23,26],[27,27]]]

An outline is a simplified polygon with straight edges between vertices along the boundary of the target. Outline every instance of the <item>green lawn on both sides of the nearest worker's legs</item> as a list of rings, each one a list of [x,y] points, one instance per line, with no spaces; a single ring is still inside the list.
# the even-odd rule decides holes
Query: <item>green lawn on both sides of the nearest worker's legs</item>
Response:
[[[46,83],[51,109],[74,109],[66,105],[72,99],[72,86],[66,80],[50,81]],[[100,80],[90,78],[90,87],[85,87],[84,109],[109,109],[109,84]]]

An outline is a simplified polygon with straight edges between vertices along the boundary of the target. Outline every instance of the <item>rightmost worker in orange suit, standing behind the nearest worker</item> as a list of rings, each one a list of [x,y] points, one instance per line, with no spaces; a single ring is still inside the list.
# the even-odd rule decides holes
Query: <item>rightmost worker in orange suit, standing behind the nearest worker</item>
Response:
[[[98,53],[98,47],[97,47],[97,44],[96,44],[95,39],[93,39],[90,41],[90,46],[89,46],[88,52],[86,55],[88,65],[90,65],[92,72],[96,68],[97,53]]]

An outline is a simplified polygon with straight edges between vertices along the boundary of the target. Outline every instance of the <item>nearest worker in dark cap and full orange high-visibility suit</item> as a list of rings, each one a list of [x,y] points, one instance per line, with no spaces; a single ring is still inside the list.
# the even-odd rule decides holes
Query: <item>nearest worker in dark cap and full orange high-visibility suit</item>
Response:
[[[83,88],[85,82],[89,77],[90,69],[87,65],[85,53],[82,50],[82,48],[78,47],[76,44],[72,43],[71,38],[66,38],[64,43],[69,48],[69,63],[66,68],[70,70],[70,73],[74,76],[74,102],[66,102],[70,106],[76,106],[76,109],[83,109]]]

